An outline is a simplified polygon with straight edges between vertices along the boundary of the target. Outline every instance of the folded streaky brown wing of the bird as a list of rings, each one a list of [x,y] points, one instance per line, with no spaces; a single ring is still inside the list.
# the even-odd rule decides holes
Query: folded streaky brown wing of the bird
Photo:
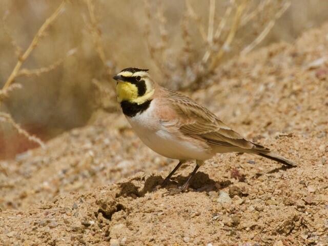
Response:
[[[171,105],[183,119],[179,121],[181,125],[180,130],[183,134],[196,135],[206,140],[209,144],[217,146],[264,149],[264,147],[244,139],[219,120],[212,112],[200,106],[189,97],[171,90],[167,90],[167,93]]]

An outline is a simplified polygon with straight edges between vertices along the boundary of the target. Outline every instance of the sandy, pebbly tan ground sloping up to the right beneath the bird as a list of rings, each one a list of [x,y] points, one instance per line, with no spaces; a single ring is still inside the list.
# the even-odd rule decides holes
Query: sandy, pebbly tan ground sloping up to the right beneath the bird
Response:
[[[191,96],[298,163],[217,155],[189,192],[120,115],[0,162],[0,245],[328,245],[328,24],[224,65]],[[191,163],[172,178],[181,185]]]

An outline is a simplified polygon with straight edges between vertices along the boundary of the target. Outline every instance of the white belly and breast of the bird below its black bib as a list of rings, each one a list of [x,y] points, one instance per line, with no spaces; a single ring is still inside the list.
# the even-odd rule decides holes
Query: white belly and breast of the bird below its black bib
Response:
[[[167,131],[159,119],[153,117],[153,104],[136,116],[127,117],[133,130],[150,149],[158,154],[179,160],[206,160],[212,157],[207,151]]]

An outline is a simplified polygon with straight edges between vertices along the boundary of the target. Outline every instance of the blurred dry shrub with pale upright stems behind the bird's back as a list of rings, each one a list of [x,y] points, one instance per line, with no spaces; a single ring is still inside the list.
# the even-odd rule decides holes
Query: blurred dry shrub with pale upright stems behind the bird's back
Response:
[[[209,84],[222,61],[253,50],[291,4],[283,0],[230,0],[226,4],[210,0],[204,20],[199,8],[196,10],[190,0],[185,0],[181,44],[172,51],[161,3],[145,1],[145,37],[150,57],[165,84],[174,89],[197,89]],[[152,35],[154,29],[158,29],[157,37]]]

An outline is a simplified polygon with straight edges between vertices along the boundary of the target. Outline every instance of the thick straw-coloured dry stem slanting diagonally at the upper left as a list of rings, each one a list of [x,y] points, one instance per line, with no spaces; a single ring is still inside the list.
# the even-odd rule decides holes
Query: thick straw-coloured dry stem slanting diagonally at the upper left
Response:
[[[27,48],[27,50],[23,53],[22,56],[19,57],[15,68],[11,72],[10,76],[8,77],[6,83],[5,83],[4,87],[3,87],[4,90],[6,90],[10,86],[10,84],[14,81],[14,79],[16,78],[16,76],[17,76],[17,74],[19,72],[20,67],[22,67],[24,61],[29,57],[29,55],[31,54],[31,52],[36,47],[39,38],[42,37],[42,35],[44,34],[44,32],[47,30],[47,28],[54,22],[54,20],[57,18],[57,16],[61,13],[61,10],[63,10],[65,4],[66,4],[66,1],[63,1],[59,5],[59,7],[55,10],[55,12],[48,19],[46,19],[46,21],[44,22],[44,24],[37,31],[37,33],[35,34],[32,42],[29,45],[29,47]]]

